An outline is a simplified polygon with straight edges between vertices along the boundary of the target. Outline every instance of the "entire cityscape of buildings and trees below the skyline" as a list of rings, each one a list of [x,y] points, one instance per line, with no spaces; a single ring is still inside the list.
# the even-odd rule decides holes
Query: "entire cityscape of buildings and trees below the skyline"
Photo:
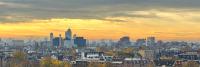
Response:
[[[48,35],[48,34],[47,34]],[[200,43],[88,40],[72,29],[44,40],[0,39],[0,67],[199,67]]]

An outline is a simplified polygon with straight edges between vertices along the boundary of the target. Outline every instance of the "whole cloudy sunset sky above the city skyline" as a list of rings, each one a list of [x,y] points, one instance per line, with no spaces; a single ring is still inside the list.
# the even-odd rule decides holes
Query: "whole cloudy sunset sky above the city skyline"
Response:
[[[0,0],[1,38],[200,39],[200,0]]]

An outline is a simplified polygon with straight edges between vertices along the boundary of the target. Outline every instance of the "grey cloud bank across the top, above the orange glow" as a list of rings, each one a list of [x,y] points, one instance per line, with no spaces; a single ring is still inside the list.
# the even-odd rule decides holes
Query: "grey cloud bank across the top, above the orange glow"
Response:
[[[154,14],[137,15],[123,12],[165,8],[199,9],[199,3],[200,0],[1,0],[0,8],[2,10],[0,10],[0,15],[15,13],[21,16],[32,16],[35,19],[78,18],[103,20],[108,16],[159,18]],[[20,18],[24,20],[32,19]],[[4,21],[3,18],[0,19],[0,21]]]

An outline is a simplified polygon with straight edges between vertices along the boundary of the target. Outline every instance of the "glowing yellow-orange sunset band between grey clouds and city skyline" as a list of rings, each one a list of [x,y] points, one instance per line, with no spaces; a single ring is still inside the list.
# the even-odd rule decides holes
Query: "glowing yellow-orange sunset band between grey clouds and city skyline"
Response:
[[[194,14],[195,13],[195,14]],[[127,14],[154,15],[157,17],[106,17],[97,19],[49,19],[32,20],[21,23],[0,24],[0,37],[31,38],[49,37],[49,33],[64,35],[67,28],[72,28],[73,34],[88,39],[119,39],[128,35],[132,39],[156,36],[163,40],[198,40],[200,27],[197,20],[200,12],[173,12],[173,11],[137,11]],[[111,20],[111,21],[107,21]],[[112,20],[124,20],[112,21]]]

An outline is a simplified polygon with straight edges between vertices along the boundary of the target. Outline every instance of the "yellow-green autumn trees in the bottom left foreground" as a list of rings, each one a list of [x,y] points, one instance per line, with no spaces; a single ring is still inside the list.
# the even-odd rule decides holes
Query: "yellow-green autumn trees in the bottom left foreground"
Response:
[[[0,67],[72,67],[70,63],[44,57],[38,61],[27,59],[24,52],[16,51],[12,57],[1,58]]]

